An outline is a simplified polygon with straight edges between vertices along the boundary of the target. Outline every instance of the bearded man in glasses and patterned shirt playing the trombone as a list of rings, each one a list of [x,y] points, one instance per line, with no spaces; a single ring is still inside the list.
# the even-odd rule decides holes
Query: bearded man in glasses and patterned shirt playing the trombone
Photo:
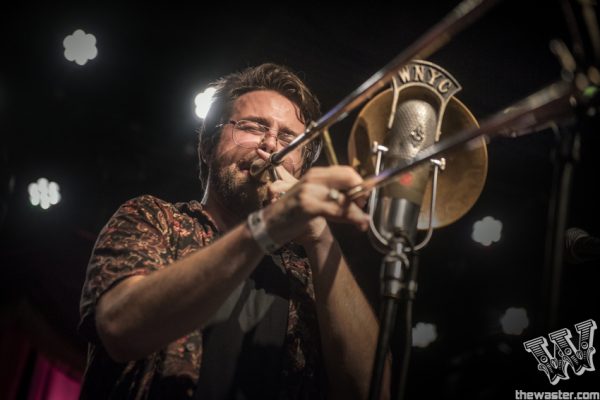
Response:
[[[202,204],[141,196],[98,237],[81,301],[81,396],[366,398],[378,325],[326,222],[367,228],[343,194],[361,178],[306,172],[317,143],[256,179],[252,166],[302,133],[318,102],[274,64],[214,86]]]

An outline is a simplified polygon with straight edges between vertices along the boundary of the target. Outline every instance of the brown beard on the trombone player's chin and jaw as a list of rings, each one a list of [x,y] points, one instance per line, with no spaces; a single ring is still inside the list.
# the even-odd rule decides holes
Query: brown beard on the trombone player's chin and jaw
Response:
[[[213,172],[214,171],[214,172]],[[236,164],[223,167],[213,162],[209,173],[210,189],[238,219],[268,204],[267,185],[248,175],[239,173]]]

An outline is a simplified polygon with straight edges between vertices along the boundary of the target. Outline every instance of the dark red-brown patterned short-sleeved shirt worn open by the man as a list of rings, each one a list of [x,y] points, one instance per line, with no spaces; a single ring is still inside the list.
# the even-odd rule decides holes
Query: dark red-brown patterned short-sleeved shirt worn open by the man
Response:
[[[126,202],[113,215],[96,241],[82,291],[79,329],[89,347],[81,398],[194,396],[202,363],[202,332],[190,332],[143,359],[117,363],[98,338],[94,313],[100,297],[123,279],[169,268],[218,237],[211,217],[197,201],[170,204],[145,195]],[[307,259],[298,254],[297,248],[286,246],[272,256],[285,268],[290,296],[280,399],[324,396],[312,275]]]

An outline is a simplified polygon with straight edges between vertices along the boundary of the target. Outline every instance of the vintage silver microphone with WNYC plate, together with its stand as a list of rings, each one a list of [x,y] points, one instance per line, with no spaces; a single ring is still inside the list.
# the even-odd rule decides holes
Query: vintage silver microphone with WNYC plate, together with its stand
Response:
[[[440,84],[440,82],[444,82]],[[374,146],[376,173],[410,164],[439,137],[446,105],[460,90],[454,78],[439,66],[413,61],[393,80],[393,100],[388,113],[383,145]],[[379,399],[385,359],[390,344],[397,344],[393,365],[393,392],[402,398],[412,347],[412,301],[416,293],[414,242],[421,205],[432,168],[419,165],[370,198],[369,238],[384,254],[381,272],[381,328],[373,366],[369,397]],[[398,319],[398,313],[400,318]],[[394,347],[394,346],[392,346]]]

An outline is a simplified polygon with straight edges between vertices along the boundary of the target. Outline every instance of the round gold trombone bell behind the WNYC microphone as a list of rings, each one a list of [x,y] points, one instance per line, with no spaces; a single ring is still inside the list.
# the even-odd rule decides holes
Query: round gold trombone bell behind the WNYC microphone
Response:
[[[375,157],[371,153],[371,146],[374,141],[380,144],[384,142],[391,103],[392,90],[381,92],[363,107],[352,127],[348,159],[362,176],[375,173]],[[446,106],[439,140],[443,141],[475,126],[478,126],[475,117],[462,102],[452,97]],[[440,171],[438,178],[432,222],[434,228],[449,225],[465,215],[479,198],[487,176],[487,148],[482,137],[442,156],[446,159],[446,168]],[[427,229],[429,223],[431,184],[432,178],[429,179],[421,205],[417,226],[420,230]]]

